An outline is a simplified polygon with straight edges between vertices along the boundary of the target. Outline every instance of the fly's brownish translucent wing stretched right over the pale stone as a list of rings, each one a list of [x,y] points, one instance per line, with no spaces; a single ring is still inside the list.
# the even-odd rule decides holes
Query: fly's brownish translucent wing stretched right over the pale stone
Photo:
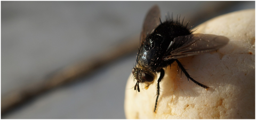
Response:
[[[177,59],[199,55],[217,50],[228,44],[229,39],[224,36],[210,34],[193,34],[174,38],[172,45],[167,49],[164,60]]]

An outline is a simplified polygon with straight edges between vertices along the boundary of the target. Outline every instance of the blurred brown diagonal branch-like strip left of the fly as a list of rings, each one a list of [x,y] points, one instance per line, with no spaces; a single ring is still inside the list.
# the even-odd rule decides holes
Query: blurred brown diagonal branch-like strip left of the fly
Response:
[[[97,57],[84,60],[73,65],[69,65],[62,70],[56,72],[50,78],[44,80],[43,83],[31,84],[29,87],[14,91],[2,98],[1,113],[2,115],[22,104],[23,102],[40,95],[43,92],[56,88],[60,85],[72,82],[87,74],[90,74],[97,68],[106,65],[117,58],[130,54],[138,50],[139,37],[129,38],[122,44],[113,46],[110,50],[101,53]]]

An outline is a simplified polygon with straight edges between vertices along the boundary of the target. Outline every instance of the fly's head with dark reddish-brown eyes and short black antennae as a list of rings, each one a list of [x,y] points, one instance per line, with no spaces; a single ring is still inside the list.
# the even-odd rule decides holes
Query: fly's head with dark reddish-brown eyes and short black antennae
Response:
[[[137,65],[132,68],[132,74],[134,80],[137,80],[134,90],[138,90],[140,92],[139,83],[143,83],[145,85],[145,89],[148,89],[149,85],[152,84],[157,76],[156,72],[150,71],[148,68],[143,67],[141,65]]]

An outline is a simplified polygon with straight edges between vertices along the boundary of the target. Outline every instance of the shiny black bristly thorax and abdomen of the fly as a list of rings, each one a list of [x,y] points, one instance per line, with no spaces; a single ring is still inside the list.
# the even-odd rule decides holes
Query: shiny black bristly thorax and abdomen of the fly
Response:
[[[139,48],[137,54],[137,63],[147,67],[150,71],[159,71],[161,68],[166,67],[173,63],[171,61],[163,61],[164,56],[167,56],[167,48],[173,42],[173,39],[179,36],[190,35],[191,32],[183,27],[181,24],[175,24],[172,21],[165,21],[161,23],[153,33],[146,37],[145,42]],[[170,47],[169,49],[175,49],[183,45],[181,42],[179,45]]]

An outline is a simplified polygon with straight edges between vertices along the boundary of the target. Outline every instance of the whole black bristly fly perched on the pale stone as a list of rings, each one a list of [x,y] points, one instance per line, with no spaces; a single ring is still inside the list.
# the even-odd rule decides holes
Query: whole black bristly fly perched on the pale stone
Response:
[[[132,68],[134,80],[137,80],[134,90],[138,90],[138,92],[140,92],[139,83],[143,83],[147,89],[157,79],[157,73],[160,73],[157,80],[154,112],[156,112],[159,97],[159,82],[165,74],[163,68],[176,62],[188,80],[190,79],[207,89],[209,87],[190,77],[178,58],[211,52],[227,45],[229,41],[223,36],[191,34],[190,28],[187,28],[188,24],[183,26],[184,19],[180,23],[178,16],[176,21],[173,21],[170,15],[166,17],[165,22],[162,22],[160,18],[158,6],[155,5],[150,8],[142,27],[140,47],[136,58],[137,65]]]

